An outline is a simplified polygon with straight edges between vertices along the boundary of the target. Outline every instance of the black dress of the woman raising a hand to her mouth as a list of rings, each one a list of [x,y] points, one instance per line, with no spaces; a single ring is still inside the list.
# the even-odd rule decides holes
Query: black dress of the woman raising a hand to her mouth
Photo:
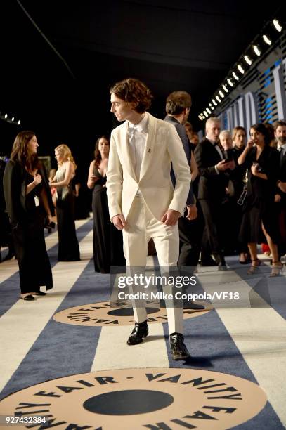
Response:
[[[268,180],[252,175],[251,166],[257,162],[261,172]],[[243,164],[247,167],[247,195],[242,207],[242,223],[239,239],[241,242],[266,242],[261,221],[274,243],[279,241],[278,214],[274,197],[279,174],[279,152],[275,148],[265,146],[256,159],[256,147],[252,148]]]

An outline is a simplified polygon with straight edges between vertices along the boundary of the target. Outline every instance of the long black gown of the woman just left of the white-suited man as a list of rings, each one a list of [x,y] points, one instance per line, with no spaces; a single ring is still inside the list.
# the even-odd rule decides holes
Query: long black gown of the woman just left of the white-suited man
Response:
[[[110,266],[125,266],[123,255],[122,232],[110,222],[108,197],[106,195],[106,176],[102,176],[97,167],[93,175],[98,178],[93,188],[93,261],[94,270],[110,273]]]

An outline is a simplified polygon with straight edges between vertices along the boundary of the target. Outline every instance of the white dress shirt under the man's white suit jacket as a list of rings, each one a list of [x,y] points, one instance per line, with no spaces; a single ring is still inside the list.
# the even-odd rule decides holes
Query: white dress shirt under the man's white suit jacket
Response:
[[[129,153],[137,181],[140,179],[143,153],[148,138],[148,116],[144,115],[141,122],[134,125],[128,122]]]

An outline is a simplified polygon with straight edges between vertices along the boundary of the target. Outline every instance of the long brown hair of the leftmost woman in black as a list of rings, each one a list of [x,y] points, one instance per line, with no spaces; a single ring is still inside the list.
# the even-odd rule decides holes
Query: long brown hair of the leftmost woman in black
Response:
[[[28,150],[28,143],[35,136],[34,131],[20,131],[13,143],[11,159],[25,167],[27,171],[39,169],[39,159],[37,154],[31,154]]]

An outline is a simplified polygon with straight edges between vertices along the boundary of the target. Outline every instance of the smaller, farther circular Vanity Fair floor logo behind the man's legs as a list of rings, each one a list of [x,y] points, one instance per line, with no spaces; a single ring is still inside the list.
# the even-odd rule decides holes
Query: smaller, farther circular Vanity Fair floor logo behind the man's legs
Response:
[[[199,301],[196,303],[203,304],[206,309],[201,311],[183,309],[184,319],[194,318],[212,310],[208,303]],[[146,311],[148,313],[148,323],[167,323],[166,309],[146,306]],[[109,301],[68,308],[53,315],[53,319],[58,323],[73,325],[134,325],[132,308],[116,308],[111,306]]]

